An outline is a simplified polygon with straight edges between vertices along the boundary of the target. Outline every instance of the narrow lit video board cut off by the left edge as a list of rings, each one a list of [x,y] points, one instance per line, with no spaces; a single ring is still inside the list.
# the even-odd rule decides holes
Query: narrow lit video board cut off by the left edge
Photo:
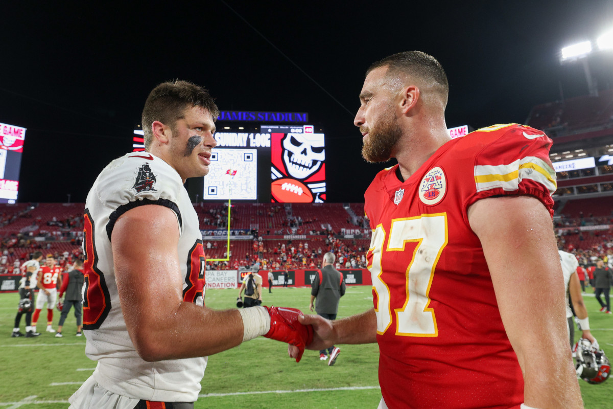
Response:
[[[0,203],[16,203],[26,128],[0,123]]]

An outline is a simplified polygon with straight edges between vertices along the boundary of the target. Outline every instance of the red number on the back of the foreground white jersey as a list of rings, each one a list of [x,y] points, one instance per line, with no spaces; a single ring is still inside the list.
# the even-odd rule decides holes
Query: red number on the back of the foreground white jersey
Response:
[[[85,227],[83,227],[83,329],[98,329],[111,309],[111,297],[104,279],[104,273],[98,268],[98,254],[94,245],[94,224],[89,210],[85,209]]]

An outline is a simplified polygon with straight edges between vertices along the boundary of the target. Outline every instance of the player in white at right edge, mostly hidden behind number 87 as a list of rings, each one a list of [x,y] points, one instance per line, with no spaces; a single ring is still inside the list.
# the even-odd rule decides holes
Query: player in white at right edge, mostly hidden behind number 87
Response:
[[[568,305],[568,296],[571,298],[574,312],[579,320],[579,326],[582,332],[581,338],[590,340],[590,342],[595,345],[596,350],[598,350],[598,342],[596,342],[596,338],[594,338],[592,332],[590,332],[590,321],[587,317],[587,308],[585,308],[583,296],[581,295],[581,283],[579,283],[579,277],[577,276],[579,262],[571,253],[566,253],[566,251],[562,250],[558,250],[558,253],[560,254],[562,272],[564,273],[564,283],[566,285],[566,319],[568,319],[568,336],[571,346],[574,345],[574,323],[573,312]]]

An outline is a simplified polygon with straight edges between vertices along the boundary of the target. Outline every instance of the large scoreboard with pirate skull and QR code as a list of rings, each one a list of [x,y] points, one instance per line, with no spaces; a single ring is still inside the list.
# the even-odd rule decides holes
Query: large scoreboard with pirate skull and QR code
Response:
[[[326,201],[326,139],[313,125],[271,124],[215,132],[217,146],[200,186],[188,189],[203,201]],[[144,150],[142,130],[134,151]],[[192,183],[192,182],[189,182]]]

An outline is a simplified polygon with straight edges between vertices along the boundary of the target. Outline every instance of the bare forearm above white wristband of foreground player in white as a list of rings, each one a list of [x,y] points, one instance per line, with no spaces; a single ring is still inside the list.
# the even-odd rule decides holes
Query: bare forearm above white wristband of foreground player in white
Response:
[[[125,315],[125,310],[124,310]],[[126,319],[132,341],[145,361],[208,356],[229,350],[243,340],[238,310],[216,311],[181,302],[169,313]]]

